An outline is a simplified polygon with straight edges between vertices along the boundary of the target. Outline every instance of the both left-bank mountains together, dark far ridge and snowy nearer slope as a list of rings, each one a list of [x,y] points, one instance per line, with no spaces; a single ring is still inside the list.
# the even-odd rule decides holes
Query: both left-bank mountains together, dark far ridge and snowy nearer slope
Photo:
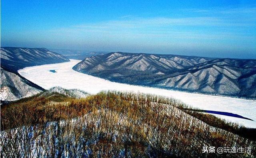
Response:
[[[1,101],[14,101],[44,90],[20,76],[17,70],[27,66],[70,61],[46,48],[1,47]]]

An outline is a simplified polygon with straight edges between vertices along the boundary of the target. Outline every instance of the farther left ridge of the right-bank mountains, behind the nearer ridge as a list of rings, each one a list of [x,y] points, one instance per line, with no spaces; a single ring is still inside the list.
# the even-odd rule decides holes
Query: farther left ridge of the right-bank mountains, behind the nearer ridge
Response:
[[[104,76],[105,73],[110,76],[108,75],[110,72],[118,76],[166,74],[209,60],[212,60],[212,58],[198,59],[198,57],[193,56],[113,52],[85,58],[73,69],[98,76]]]

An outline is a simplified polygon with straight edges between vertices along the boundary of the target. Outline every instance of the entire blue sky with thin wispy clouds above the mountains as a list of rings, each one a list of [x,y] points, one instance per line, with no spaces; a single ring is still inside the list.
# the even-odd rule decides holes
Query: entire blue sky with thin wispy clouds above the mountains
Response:
[[[1,0],[1,46],[256,58],[256,2]]]

